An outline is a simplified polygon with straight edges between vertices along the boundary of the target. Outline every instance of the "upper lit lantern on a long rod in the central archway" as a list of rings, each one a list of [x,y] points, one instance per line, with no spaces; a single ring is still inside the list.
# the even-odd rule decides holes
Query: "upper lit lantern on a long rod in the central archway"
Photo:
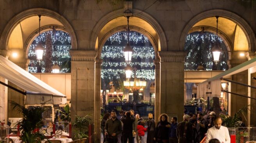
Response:
[[[127,45],[124,48],[124,58],[127,65],[130,65],[132,61],[132,47],[130,46],[129,37],[129,16],[127,16]]]

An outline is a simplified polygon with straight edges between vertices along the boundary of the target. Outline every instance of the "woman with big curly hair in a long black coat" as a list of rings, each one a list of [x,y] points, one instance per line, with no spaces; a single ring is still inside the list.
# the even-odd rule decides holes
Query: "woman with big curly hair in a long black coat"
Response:
[[[169,128],[171,127],[171,123],[168,122],[168,115],[162,113],[159,116],[159,122],[156,125],[155,130],[155,138],[154,140],[157,143],[168,143],[169,142]]]

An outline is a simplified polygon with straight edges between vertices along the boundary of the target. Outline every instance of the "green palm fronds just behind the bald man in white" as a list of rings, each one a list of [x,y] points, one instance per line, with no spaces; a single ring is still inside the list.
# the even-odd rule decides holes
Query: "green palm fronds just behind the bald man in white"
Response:
[[[248,105],[250,106],[250,105]],[[233,117],[229,116],[229,115],[220,115],[220,117],[222,118],[222,125],[225,127],[240,127],[240,123],[242,122],[242,117],[244,117],[244,119],[246,120],[246,113],[247,110],[249,110],[248,106],[243,107],[242,109],[240,109],[238,112],[235,113],[235,115]],[[246,120],[247,122],[247,120]]]

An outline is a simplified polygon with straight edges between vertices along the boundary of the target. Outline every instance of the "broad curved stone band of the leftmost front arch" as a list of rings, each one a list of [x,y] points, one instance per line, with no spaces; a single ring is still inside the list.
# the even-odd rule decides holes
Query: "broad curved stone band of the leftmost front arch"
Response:
[[[33,9],[28,9],[23,12],[20,12],[16,16],[14,16],[5,26],[4,31],[0,37],[0,45],[4,45],[2,49],[8,50],[8,42],[10,35],[14,28],[18,25],[20,21],[23,21],[24,19],[27,19],[28,17],[31,16],[37,16],[38,14],[41,14],[42,16],[48,16],[52,17],[53,19],[56,19],[60,23],[64,25],[66,28],[66,31],[69,33],[71,37],[71,45],[72,49],[76,50],[77,49],[77,39],[75,35],[75,31],[72,28],[71,24],[68,22],[68,20],[61,16],[59,13],[50,10],[50,9],[44,9],[44,8],[33,8]],[[24,47],[23,47],[24,49]]]

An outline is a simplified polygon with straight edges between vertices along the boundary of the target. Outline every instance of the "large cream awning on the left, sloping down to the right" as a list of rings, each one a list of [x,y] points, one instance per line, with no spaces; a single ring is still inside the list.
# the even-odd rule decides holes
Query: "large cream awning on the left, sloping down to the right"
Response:
[[[0,76],[25,90],[26,105],[66,104],[67,98],[50,85],[0,56]]]

